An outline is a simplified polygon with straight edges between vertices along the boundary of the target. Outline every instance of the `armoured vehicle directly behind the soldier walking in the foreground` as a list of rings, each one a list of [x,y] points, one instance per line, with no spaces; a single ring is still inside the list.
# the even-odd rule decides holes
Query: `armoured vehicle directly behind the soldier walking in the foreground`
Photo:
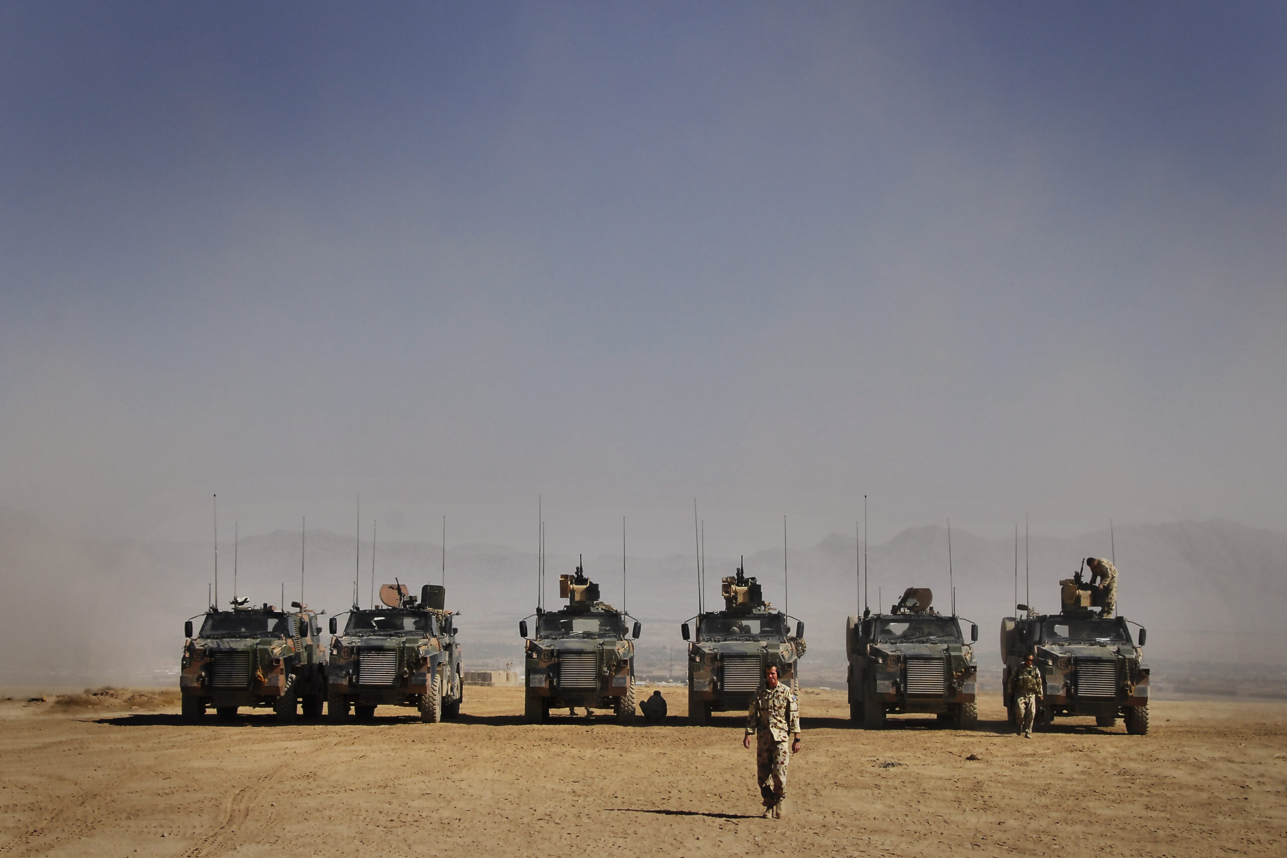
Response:
[[[798,664],[804,655],[804,624],[790,619],[764,601],[759,584],[736,575],[722,579],[725,610],[696,617],[698,634],[680,626],[689,642],[689,723],[705,724],[713,711],[745,713],[750,698],[764,684],[768,665],[777,666],[777,680],[792,691],[799,688]]]

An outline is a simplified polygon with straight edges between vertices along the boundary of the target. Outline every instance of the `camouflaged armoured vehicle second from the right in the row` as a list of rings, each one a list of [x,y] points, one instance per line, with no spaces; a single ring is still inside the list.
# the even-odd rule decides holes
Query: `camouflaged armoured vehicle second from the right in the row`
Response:
[[[933,593],[909,587],[889,614],[851,616],[844,626],[849,659],[849,720],[864,729],[884,727],[888,713],[933,713],[945,727],[972,728],[978,720],[978,665],[961,619],[942,616]]]

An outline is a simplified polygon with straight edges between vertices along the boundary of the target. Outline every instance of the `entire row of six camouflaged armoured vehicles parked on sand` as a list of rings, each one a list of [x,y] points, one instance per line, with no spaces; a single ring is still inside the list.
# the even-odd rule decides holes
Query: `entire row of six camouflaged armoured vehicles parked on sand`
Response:
[[[1001,624],[1004,700],[1015,718],[1010,677],[1032,655],[1045,693],[1037,728],[1055,717],[1094,717],[1099,726],[1125,719],[1131,733],[1148,731],[1149,669],[1143,661],[1145,632],[1138,646],[1122,617],[1103,616],[1098,590],[1081,572],[1060,581],[1060,612],[1042,615],[1018,606],[1022,616]],[[806,652],[804,624],[794,629],[786,614],[763,599],[754,578],[739,567],[722,580],[721,611],[704,611],[681,626],[689,642],[689,720],[708,723],[712,713],[744,713],[761,689],[764,671],[776,666],[780,680],[799,686]],[[230,611],[211,608],[199,630],[188,621],[184,647],[183,714],[199,719],[207,707],[232,717],[238,706],[272,706],[278,720],[350,711],[369,718],[378,705],[418,709],[438,722],[459,714],[463,698],[461,644],[454,617],[444,610],[445,590],[426,585],[420,599],[402,584],[381,588],[384,607],[347,611],[342,633],[331,617],[328,657],[323,659],[318,615],[292,603],[292,611],[251,607],[245,599]],[[600,598],[598,585],[580,566],[560,576],[555,611],[541,607],[519,623],[524,638],[524,714],[544,722],[551,710],[611,710],[629,723],[637,709],[634,644],[640,623]],[[973,644],[978,625],[943,616],[932,593],[909,588],[888,614],[864,612],[846,624],[851,720],[879,729],[891,713],[937,715],[949,727],[969,728],[978,718]],[[529,626],[528,620],[534,620]],[[631,624],[629,621],[633,620]],[[694,628],[695,625],[695,628]],[[196,632],[196,633],[194,633]]]

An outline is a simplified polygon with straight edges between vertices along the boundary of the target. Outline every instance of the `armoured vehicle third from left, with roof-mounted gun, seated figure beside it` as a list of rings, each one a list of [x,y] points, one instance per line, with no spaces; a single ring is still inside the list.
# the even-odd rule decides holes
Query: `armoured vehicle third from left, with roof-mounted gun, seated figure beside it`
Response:
[[[634,644],[640,623],[627,638],[625,617],[598,598],[598,584],[580,565],[575,575],[559,576],[559,596],[566,607],[533,615],[535,635],[528,639],[526,617],[519,634],[526,650],[524,715],[529,723],[550,718],[551,709],[611,709],[616,723],[634,720]],[[631,617],[634,619],[634,617]]]

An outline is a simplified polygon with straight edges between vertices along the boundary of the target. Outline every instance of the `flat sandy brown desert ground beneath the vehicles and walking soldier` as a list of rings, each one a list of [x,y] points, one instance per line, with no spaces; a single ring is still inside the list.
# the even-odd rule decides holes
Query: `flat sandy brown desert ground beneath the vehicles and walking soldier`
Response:
[[[443,724],[3,702],[0,853],[1287,854],[1287,705],[1156,701],[1148,736],[1077,720],[1023,740],[999,700],[969,732],[910,717],[864,732],[843,692],[806,689],[772,821],[741,719],[687,727],[683,689],[663,693],[667,723],[628,728],[529,727],[521,688],[467,688]]]

